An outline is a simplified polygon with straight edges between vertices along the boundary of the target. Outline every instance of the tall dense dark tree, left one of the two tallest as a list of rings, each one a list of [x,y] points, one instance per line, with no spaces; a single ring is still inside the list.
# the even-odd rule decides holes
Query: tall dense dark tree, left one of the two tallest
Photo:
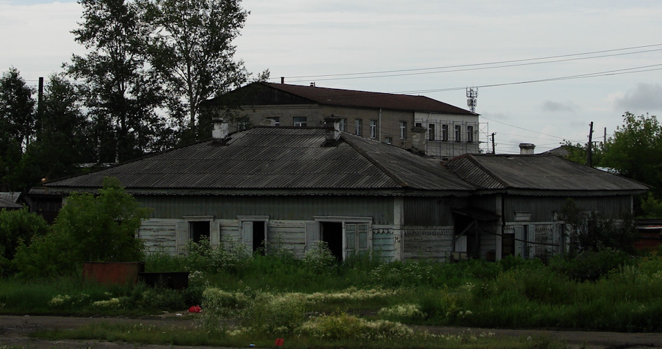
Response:
[[[124,0],[79,3],[83,23],[73,33],[91,52],[74,55],[66,68],[88,86],[86,106],[96,131],[97,160],[124,161],[158,150],[152,146],[165,124],[157,113],[164,99],[146,69],[149,30],[141,21],[141,7]]]

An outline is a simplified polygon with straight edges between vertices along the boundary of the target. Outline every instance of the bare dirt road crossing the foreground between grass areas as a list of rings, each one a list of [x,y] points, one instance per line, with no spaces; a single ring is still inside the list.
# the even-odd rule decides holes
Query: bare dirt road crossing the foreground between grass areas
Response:
[[[48,328],[76,328],[88,323],[143,323],[156,326],[181,326],[190,328],[197,314],[180,312],[140,319],[123,317],[48,317],[48,316],[0,316],[0,346],[23,348],[175,348],[174,346],[141,346],[131,343],[99,341],[46,341],[32,339],[28,334],[34,330]],[[416,326],[418,330],[432,333],[461,333],[470,330],[479,335],[492,332],[496,336],[536,337],[549,336],[568,343],[568,348],[662,348],[662,334],[659,333],[620,333],[620,332],[580,332],[561,330],[503,330],[488,328],[458,328],[440,326]],[[248,345],[247,345],[248,346]],[[205,348],[205,347],[176,347]]]

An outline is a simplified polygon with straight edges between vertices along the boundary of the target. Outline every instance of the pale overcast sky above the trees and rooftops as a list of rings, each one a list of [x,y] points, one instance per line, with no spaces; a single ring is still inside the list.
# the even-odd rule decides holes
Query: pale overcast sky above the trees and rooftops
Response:
[[[236,59],[272,82],[420,94],[467,108],[481,141],[536,153],[601,141],[622,115],[662,115],[659,0],[243,0]],[[0,72],[28,84],[83,54],[76,1],[0,0]]]

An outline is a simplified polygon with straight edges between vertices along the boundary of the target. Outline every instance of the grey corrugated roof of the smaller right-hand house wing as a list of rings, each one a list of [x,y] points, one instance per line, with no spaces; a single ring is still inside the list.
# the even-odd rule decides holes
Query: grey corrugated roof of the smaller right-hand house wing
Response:
[[[648,190],[642,183],[552,154],[465,154],[445,166],[485,189]]]

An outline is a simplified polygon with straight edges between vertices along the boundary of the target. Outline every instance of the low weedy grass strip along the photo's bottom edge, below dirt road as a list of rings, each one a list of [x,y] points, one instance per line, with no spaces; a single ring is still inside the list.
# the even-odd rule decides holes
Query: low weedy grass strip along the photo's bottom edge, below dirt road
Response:
[[[359,322],[356,318],[325,319],[328,333],[305,332],[284,336],[286,348],[565,348],[565,343],[549,337],[514,338],[495,337],[490,333],[474,333],[470,330],[449,335],[432,335],[426,332],[410,332],[406,336],[374,336],[373,330],[363,329],[352,333],[339,328],[357,328],[347,322]],[[333,331],[336,329],[337,331]],[[334,335],[331,335],[331,334]],[[362,334],[372,335],[364,337]],[[325,335],[325,336],[324,336]],[[96,323],[75,330],[49,330],[33,334],[50,340],[78,339],[101,341],[126,341],[141,345],[161,344],[177,346],[224,346],[245,348],[254,344],[258,348],[274,346],[272,335],[260,335],[242,329],[223,328],[182,329],[173,327],[119,325]]]

